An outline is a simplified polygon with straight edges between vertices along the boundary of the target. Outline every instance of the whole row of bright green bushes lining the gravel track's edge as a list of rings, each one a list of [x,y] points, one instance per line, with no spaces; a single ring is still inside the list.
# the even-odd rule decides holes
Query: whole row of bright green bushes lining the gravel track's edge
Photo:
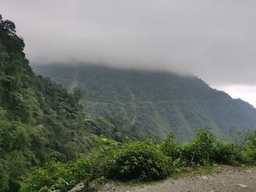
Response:
[[[255,164],[256,131],[251,134],[245,146],[222,142],[208,128],[201,128],[195,139],[184,145],[176,144],[173,134],[160,145],[153,144],[150,139],[116,142],[99,137],[94,150],[80,155],[76,161],[67,164],[50,161],[43,168],[34,168],[20,191],[67,191],[80,182],[89,190],[91,181],[100,178],[151,181],[187,170],[187,167],[214,163]]]

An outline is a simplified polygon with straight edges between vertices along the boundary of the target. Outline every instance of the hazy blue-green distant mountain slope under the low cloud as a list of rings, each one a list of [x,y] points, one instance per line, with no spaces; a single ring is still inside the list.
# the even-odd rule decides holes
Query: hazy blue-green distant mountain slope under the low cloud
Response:
[[[58,64],[37,65],[34,71],[67,88],[79,86],[87,114],[122,118],[127,127],[133,125],[144,137],[155,140],[170,131],[188,139],[202,126],[217,133],[231,127],[256,128],[255,108],[197,77]]]

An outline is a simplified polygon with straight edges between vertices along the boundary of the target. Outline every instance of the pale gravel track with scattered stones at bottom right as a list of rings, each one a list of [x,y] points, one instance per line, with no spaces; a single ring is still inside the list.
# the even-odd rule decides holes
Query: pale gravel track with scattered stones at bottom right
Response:
[[[157,183],[131,186],[109,182],[99,192],[256,192],[256,167],[217,166],[211,174],[188,174]]]

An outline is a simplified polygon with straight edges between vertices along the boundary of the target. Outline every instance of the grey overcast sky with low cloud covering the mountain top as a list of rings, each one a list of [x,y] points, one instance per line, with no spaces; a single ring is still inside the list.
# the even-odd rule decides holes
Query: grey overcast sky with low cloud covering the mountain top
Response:
[[[0,0],[31,64],[192,73],[256,106],[255,0]]]

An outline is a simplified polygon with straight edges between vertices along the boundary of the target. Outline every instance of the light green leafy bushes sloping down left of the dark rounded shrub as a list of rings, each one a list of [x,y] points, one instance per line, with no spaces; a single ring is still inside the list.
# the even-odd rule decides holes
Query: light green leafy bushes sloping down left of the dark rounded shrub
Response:
[[[20,191],[64,192],[80,182],[89,187],[91,180],[107,177],[118,145],[118,142],[99,137],[96,148],[87,155],[80,154],[76,161],[64,164],[52,160],[43,168],[35,167],[21,183]]]

